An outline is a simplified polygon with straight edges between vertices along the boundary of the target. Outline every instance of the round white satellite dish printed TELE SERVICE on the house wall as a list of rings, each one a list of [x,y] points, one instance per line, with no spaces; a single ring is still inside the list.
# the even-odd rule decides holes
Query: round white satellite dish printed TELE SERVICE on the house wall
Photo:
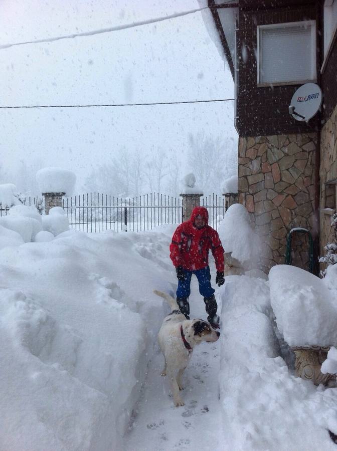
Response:
[[[291,98],[289,114],[296,121],[308,121],[319,110],[322,103],[322,91],[315,83],[300,86]]]

